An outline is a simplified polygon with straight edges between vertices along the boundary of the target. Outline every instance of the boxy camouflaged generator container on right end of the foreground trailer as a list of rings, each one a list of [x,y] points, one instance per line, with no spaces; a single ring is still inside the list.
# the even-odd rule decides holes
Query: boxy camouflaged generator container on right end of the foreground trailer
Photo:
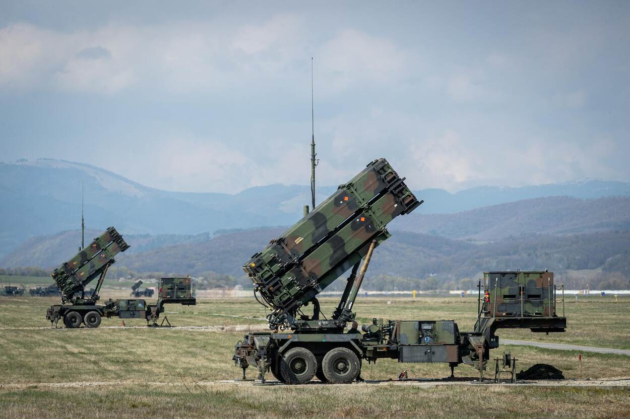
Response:
[[[556,315],[553,272],[484,272],[486,317],[551,317]]]

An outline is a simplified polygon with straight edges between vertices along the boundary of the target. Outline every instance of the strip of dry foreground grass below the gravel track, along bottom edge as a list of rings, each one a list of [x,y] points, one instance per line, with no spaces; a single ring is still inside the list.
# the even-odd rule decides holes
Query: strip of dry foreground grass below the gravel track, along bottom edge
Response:
[[[474,386],[31,388],[0,391],[10,418],[627,418],[628,389]],[[190,390],[190,393],[189,393]],[[42,401],[45,400],[45,408]]]

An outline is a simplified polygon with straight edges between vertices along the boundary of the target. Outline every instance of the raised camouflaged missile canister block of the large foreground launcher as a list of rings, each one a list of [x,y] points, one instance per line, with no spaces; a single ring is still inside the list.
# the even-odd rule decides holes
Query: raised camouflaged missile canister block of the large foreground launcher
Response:
[[[377,159],[253,255],[243,270],[273,310],[270,328],[297,327],[297,311],[360,263],[370,242],[386,240],[389,221],[420,204],[387,160]]]

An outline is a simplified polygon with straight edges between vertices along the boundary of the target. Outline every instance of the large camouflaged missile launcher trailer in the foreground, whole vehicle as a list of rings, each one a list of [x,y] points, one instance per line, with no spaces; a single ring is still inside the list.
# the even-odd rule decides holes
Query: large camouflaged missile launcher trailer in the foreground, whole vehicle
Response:
[[[287,384],[315,376],[324,383],[352,383],[360,377],[362,360],[379,358],[445,362],[451,376],[455,366],[466,363],[483,377],[489,351],[498,347],[498,328],[564,332],[551,272],[486,272],[473,332],[460,332],[453,320],[376,318],[358,330],[352,308],[372,252],[389,237],[387,223],[421,203],[386,160],[374,160],[253,255],[243,269],[254,282],[256,299],[272,310],[272,332],[249,333],[236,344],[232,359],[243,378],[253,366],[263,383],[266,372]],[[350,267],[338,307],[320,320],[316,295]],[[302,308],[311,303],[313,314],[305,315]]]

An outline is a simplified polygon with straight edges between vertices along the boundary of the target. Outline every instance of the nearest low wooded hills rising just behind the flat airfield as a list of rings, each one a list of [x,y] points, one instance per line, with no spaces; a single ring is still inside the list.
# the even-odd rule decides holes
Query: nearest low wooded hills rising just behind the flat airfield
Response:
[[[114,275],[161,272],[205,277],[216,274],[222,277],[222,282],[217,282],[216,286],[237,283],[249,286],[241,265],[263,249],[270,238],[278,237],[284,230],[260,228],[144,252],[125,252],[117,256],[112,272]],[[595,284],[604,282],[613,284],[608,285],[610,288],[630,288],[630,232],[532,234],[483,244],[394,232],[375,250],[365,287],[470,289],[483,271],[515,269],[549,269],[557,272],[563,282],[571,279],[574,271],[588,271],[588,277],[583,281],[578,280],[579,275],[578,279],[574,275],[571,286],[581,288],[590,282],[594,288]],[[336,284],[333,289],[339,287]]]

